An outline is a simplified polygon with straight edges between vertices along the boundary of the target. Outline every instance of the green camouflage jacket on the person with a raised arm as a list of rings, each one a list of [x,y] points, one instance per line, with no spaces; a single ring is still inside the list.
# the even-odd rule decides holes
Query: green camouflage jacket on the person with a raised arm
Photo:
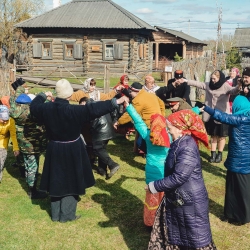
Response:
[[[29,104],[18,104],[16,98],[25,92],[19,86],[10,97],[10,116],[15,120],[17,141],[20,151],[25,154],[38,154],[46,149],[47,138],[44,126],[39,125],[30,115]]]

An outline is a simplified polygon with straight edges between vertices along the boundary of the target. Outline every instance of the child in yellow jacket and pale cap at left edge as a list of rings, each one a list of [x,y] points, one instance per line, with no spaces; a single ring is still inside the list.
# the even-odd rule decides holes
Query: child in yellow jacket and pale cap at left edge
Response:
[[[15,121],[10,118],[9,109],[4,105],[0,105],[0,182],[2,182],[3,167],[10,138],[13,143],[14,155],[18,156],[19,147],[16,138]]]

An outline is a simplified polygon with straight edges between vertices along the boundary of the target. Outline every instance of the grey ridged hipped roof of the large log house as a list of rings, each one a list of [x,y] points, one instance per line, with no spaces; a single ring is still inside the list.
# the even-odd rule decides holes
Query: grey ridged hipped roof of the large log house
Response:
[[[15,25],[18,28],[155,28],[111,0],[73,0]]]

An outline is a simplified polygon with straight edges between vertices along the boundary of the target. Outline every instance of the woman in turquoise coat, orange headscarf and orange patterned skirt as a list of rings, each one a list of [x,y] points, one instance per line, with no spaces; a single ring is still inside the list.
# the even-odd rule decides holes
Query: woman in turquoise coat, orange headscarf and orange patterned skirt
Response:
[[[166,131],[165,117],[159,114],[154,114],[150,119],[150,129],[142,120],[141,116],[136,112],[132,104],[126,103],[126,111],[132,118],[136,130],[145,140],[147,145],[146,155],[146,183],[162,179],[164,177],[164,163],[166,155],[170,147],[169,136]],[[162,200],[163,192],[152,194],[146,192],[144,205],[144,224],[153,226],[156,210]]]

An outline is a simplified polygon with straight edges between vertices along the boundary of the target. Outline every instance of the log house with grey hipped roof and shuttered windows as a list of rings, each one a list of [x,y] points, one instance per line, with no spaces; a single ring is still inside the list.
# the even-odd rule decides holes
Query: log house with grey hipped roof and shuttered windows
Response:
[[[152,69],[155,28],[111,0],[73,0],[16,28],[27,34],[18,53],[37,74],[60,65],[78,75],[103,73],[104,65],[113,74]]]

